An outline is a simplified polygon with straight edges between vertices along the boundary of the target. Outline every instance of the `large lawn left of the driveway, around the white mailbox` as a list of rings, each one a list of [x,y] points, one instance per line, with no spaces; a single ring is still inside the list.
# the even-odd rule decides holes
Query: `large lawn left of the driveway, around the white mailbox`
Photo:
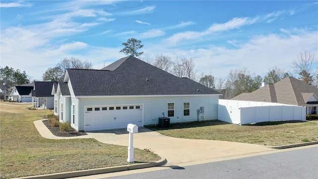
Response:
[[[5,105],[9,104],[9,105]],[[50,140],[40,136],[33,121],[50,110],[28,110],[28,104],[0,101],[0,178],[15,178],[129,164],[127,147],[95,139]],[[135,149],[135,161],[160,157]]]

